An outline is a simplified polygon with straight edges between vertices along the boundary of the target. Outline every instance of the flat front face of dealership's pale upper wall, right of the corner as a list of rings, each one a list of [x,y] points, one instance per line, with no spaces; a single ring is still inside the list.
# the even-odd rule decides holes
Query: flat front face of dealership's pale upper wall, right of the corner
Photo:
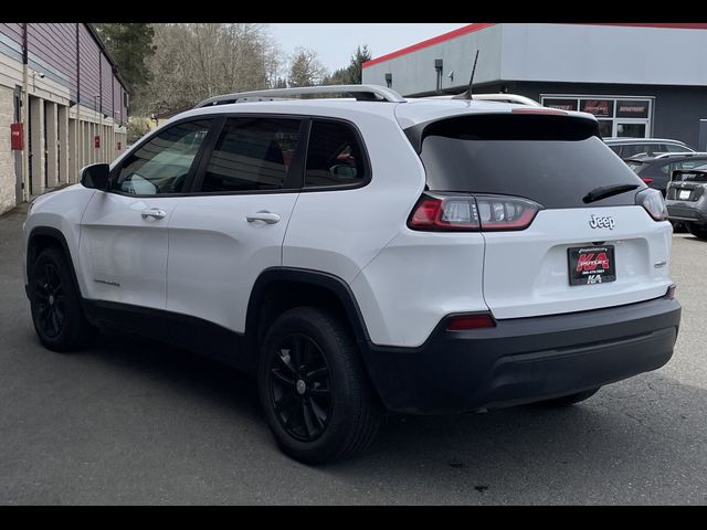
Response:
[[[705,24],[689,29],[631,24],[500,25],[500,80],[707,85]]]

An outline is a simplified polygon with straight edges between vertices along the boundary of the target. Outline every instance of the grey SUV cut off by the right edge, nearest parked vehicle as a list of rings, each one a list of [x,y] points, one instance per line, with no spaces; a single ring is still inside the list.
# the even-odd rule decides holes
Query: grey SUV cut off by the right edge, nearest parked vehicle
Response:
[[[684,223],[690,234],[707,240],[707,165],[673,171],[665,202],[671,222]]]

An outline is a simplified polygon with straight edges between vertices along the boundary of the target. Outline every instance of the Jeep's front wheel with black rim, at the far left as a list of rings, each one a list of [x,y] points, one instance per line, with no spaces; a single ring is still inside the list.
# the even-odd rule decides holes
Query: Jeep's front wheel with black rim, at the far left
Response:
[[[57,247],[44,248],[32,264],[30,308],[40,342],[50,350],[78,350],[96,336],[81,308],[73,271]]]

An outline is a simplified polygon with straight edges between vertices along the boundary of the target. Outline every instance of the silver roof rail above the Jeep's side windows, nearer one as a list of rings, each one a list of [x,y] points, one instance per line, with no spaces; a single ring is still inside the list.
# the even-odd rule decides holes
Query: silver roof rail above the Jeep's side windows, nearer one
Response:
[[[359,102],[390,102],[404,103],[405,99],[395,91],[378,85],[328,85],[328,86],[300,86],[297,88],[270,88],[264,91],[236,92],[222,96],[210,97],[197,104],[194,108],[211,105],[228,105],[240,100],[271,100],[276,98],[291,98],[305,94],[345,94]]]

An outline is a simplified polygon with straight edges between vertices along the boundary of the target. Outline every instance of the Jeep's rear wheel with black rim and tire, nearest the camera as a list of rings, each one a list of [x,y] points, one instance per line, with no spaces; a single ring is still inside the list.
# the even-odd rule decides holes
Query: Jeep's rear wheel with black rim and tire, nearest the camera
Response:
[[[257,367],[261,405],[277,445],[305,464],[366,449],[383,407],[356,341],[321,309],[298,307],[270,327]]]

